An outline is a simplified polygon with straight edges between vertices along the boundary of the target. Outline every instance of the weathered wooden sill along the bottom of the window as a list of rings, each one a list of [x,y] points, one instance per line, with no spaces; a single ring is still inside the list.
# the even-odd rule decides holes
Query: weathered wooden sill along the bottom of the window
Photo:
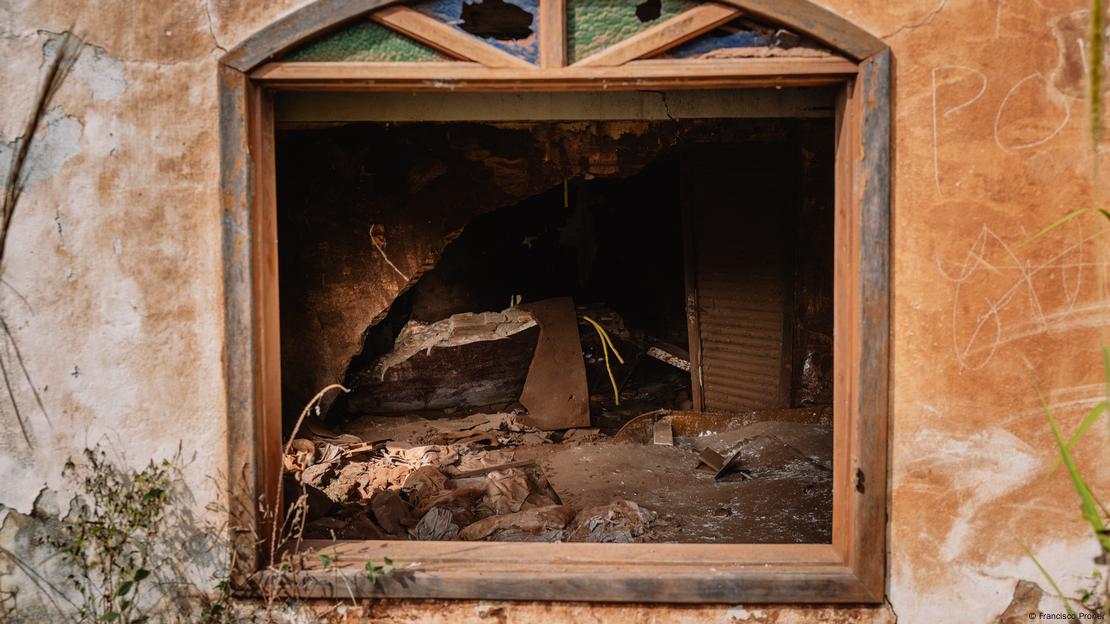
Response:
[[[829,544],[302,544],[306,568],[263,571],[263,588],[320,598],[657,603],[879,603]],[[326,554],[325,567],[315,554]],[[366,562],[396,568],[366,577]]]

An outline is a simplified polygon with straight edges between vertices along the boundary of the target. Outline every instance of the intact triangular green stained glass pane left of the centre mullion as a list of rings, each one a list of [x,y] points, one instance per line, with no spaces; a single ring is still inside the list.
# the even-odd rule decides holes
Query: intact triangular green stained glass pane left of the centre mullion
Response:
[[[400,32],[362,20],[310,41],[282,60],[405,63],[451,59]]]

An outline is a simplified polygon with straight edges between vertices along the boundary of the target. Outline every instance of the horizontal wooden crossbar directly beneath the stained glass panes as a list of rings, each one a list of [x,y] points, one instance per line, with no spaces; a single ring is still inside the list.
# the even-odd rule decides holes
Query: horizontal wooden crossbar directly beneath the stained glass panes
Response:
[[[251,78],[274,87],[382,91],[582,91],[836,84],[856,73],[839,58],[632,61],[616,68],[496,69],[468,62],[268,63]]]

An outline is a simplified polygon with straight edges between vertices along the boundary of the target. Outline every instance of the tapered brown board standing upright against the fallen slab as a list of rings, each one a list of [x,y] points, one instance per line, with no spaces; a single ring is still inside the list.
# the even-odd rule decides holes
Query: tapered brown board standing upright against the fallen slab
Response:
[[[589,391],[574,300],[562,296],[522,308],[539,324],[539,340],[521,393],[528,413],[518,420],[546,431],[589,426]]]

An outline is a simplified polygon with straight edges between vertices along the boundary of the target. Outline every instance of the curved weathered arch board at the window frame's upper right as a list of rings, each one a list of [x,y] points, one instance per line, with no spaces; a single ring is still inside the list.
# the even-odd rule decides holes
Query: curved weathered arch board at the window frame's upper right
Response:
[[[854,61],[877,54],[886,44],[848,20],[807,0],[720,0],[815,39]]]

